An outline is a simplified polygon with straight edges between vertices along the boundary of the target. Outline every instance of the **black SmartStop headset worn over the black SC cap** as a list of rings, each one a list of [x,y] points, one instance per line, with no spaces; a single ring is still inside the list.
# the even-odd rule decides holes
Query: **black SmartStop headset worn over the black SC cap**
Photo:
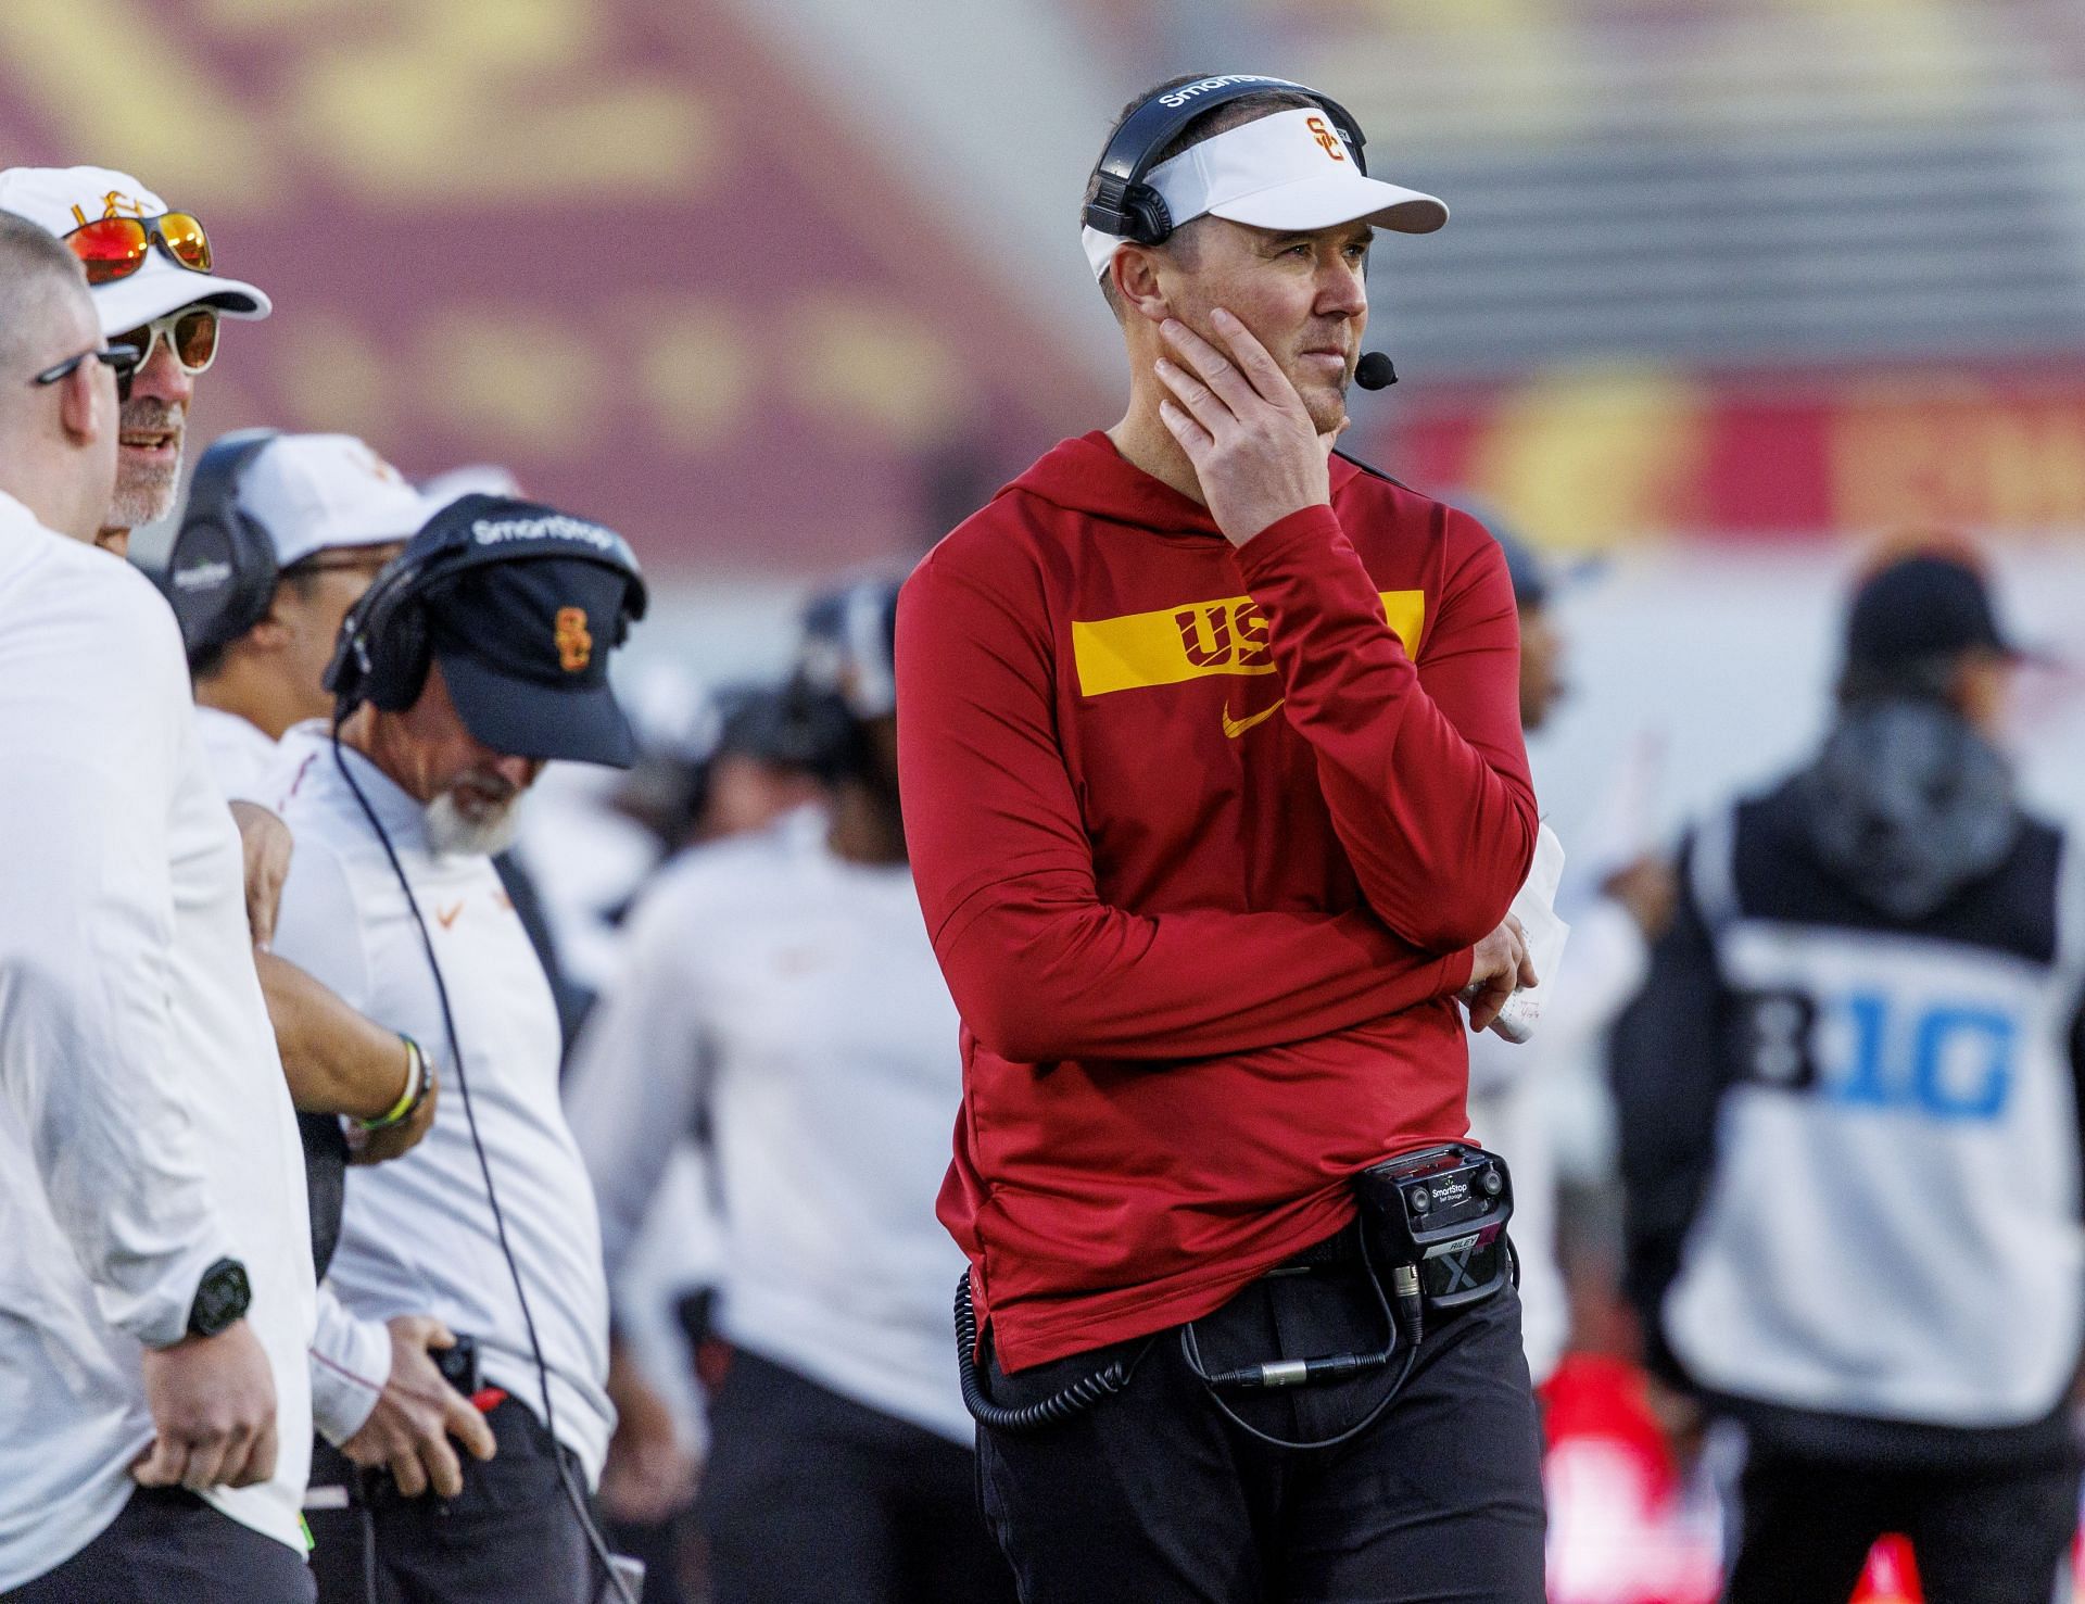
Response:
[[[340,624],[340,645],[325,670],[334,720],[361,703],[400,711],[427,682],[427,599],[459,574],[492,563],[559,557],[588,561],[623,576],[615,647],[644,617],[644,576],[630,542],[584,517],[509,496],[461,496],[407,542],[396,561],[363,592]]]

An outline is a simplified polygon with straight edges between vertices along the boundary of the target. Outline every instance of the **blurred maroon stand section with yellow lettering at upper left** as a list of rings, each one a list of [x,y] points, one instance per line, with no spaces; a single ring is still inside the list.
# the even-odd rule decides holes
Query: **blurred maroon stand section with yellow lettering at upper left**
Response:
[[[0,154],[133,169],[275,296],[204,436],[511,463],[661,565],[917,551],[953,457],[1101,405],[890,123],[711,0],[6,0]]]

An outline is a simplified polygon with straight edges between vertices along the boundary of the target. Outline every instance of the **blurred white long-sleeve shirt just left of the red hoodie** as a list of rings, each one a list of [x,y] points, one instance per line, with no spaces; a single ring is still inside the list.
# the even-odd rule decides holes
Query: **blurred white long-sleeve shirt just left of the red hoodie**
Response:
[[[611,1268],[707,1108],[717,1322],[749,1352],[970,1443],[934,1218],[957,1014],[905,866],[847,864],[815,809],[686,853],[632,916],[565,1083]]]

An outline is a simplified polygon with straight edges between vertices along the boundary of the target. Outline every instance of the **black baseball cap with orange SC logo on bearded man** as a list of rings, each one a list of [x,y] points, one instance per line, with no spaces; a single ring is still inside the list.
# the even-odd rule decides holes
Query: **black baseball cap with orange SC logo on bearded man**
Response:
[[[609,688],[630,576],[523,557],[427,594],[427,642],[465,728],[511,757],[630,768],[638,743]]]

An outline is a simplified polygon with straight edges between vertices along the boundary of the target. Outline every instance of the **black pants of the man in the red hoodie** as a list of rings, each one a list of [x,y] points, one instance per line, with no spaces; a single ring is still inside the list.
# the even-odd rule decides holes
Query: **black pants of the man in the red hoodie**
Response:
[[[1197,1322],[1205,1370],[1382,1347],[1359,1264],[1278,1270]],[[1178,1331],[1007,1377],[1030,1404],[1115,1354],[1128,1389],[1036,1433],[978,1433],[984,1508],[1024,1604],[1541,1604],[1541,1443],[1520,1299],[1434,1322],[1409,1379],[1339,1448],[1270,1448],[1224,1418]],[[1226,1393],[1247,1425],[1295,1441],[1362,1420],[1387,1372]],[[1843,1600],[1841,1600],[1843,1604]]]

